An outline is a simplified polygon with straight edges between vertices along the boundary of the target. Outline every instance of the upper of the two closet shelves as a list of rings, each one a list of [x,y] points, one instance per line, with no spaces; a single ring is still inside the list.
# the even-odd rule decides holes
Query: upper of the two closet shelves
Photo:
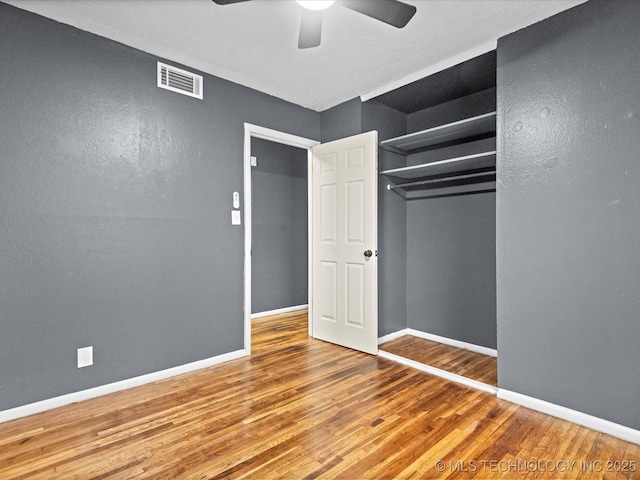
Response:
[[[462,140],[495,131],[496,112],[490,112],[457,122],[438,125],[420,132],[409,133],[401,137],[383,140],[380,145],[382,147],[390,147],[390,149],[400,153],[409,154],[432,145]]]

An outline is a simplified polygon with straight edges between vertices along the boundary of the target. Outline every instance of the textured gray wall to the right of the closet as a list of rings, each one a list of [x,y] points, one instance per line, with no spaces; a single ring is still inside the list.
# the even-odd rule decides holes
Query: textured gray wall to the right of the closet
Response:
[[[640,2],[498,43],[501,388],[640,428]]]

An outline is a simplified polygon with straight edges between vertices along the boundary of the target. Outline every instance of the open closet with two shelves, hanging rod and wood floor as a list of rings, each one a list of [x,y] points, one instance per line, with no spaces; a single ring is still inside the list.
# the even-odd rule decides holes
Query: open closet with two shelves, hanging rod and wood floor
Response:
[[[398,200],[406,216],[406,235],[399,237],[406,243],[381,252],[406,251],[406,278],[395,278],[406,288],[387,293],[406,295],[402,333],[409,337],[402,347],[400,340],[387,347],[413,352],[406,354],[419,362],[429,361],[431,353],[423,351],[440,352],[445,359],[433,366],[447,370],[451,363],[452,373],[493,386],[495,62],[489,52],[372,100],[401,112],[406,122],[403,134],[380,141],[381,216],[390,210],[386,203]],[[482,374],[474,372],[478,362]]]

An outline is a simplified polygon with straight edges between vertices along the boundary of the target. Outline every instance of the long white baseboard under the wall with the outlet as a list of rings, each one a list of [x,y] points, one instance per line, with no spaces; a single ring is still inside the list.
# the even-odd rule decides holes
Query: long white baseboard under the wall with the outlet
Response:
[[[235,352],[225,353],[223,355],[206,358],[197,362],[187,363],[186,365],[180,365],[178,367],[161,370],[159,372],[153,372],[146,375],[141,375],[139,377],[109,383],[107,385],[100,385],[99,387],[90,388],[88,390],[82,390],[80,392],[69,393],[66,395],[61,395],[59,397],[42,400],[40,402],[30,403],[21,407],[11,408],[9,410],[0,412],[0,423],[8,422],[9,420],[15,420],[16,418],[26,417],[28,415],[34,415],[36,413],[52,410],[54,408],[63,407],[72,403],[82,402],[91,398],[101,397],[103,395],[119,392],[128,388],[139,387],[147,383],[157,382],[158,380],[164,380],[165,378],[175,377],[177,375],[182,375],[183,373],[193,372],[194,370],[212,367],[214,365],[218,365],[219,363],[236,360],[246,355],[246,350],[236,350]]]

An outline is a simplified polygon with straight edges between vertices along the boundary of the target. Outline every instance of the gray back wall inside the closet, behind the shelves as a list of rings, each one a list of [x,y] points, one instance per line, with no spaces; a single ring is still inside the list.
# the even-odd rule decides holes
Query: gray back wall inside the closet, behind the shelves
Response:
[[[490,89],[407,118],[409,132],[495,110]],[[495,149],[489,138],[408,157],[409,165]],[[429,190],[437,194],[437,190]],[[407,201],[407,325],[495,349],[495,193]]]

